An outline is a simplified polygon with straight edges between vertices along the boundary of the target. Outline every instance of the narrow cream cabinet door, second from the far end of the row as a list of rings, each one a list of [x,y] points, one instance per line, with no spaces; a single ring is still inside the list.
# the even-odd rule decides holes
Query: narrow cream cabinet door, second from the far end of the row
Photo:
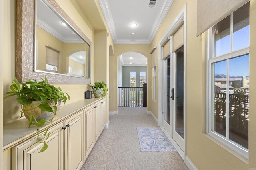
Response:
[[[101,132],[101,125],[102,125],[102,105],[101,102],[98,102],[95,105],[95,142],[98,140],[99,136],[100,136],[100,132]]]

